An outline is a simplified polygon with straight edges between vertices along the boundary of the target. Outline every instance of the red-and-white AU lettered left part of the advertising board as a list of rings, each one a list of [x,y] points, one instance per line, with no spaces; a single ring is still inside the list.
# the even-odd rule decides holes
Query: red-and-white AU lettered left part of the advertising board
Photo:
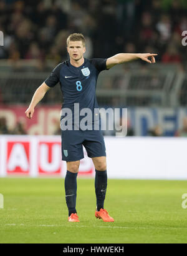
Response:
[[[0,135],[0,177],[7,175],[65,177],[60,136]],[[93,177],[95,168],[84,148],[79,175]]]

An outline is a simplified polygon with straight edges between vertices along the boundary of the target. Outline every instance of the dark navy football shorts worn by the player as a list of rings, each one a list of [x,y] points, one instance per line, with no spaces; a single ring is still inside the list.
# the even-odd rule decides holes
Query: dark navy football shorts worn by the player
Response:
[[[106,156],[102,130],[62,130],[62,160],[78,161],[84,158],[85,147],[90,158]]]

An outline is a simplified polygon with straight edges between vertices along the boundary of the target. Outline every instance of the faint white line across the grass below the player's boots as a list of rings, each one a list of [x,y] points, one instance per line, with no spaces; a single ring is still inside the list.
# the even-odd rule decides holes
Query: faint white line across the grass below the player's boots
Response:
[[[187,227],[120,227],[120,226],[97,226],[97,225],[92,225],[92,226],[85,226],[85,225],[25,225],[25,224],[0,224],[0,226],[24,226],[24,227],[69,227],[69,228],[120,228],[120,229],[164,229],[164,230],[183,230],[187,229]]]

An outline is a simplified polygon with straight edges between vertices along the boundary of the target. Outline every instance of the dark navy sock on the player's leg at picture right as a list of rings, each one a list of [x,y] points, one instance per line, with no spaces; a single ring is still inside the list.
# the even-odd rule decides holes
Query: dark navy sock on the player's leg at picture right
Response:
[[[97,211],[104,207],[107,192],[107,170],[95,170],[95,194],[97,199]]]

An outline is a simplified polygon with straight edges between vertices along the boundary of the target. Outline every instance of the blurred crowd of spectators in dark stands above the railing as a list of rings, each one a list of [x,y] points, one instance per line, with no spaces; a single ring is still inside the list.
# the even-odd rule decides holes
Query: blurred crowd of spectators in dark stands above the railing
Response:
[[[185,62],[181,44],[187,31],[187,4],[182,0],[0,0],[0,59],[67,59],[66,38],[83,33],[85,57],[159,53],[162,63]]]

